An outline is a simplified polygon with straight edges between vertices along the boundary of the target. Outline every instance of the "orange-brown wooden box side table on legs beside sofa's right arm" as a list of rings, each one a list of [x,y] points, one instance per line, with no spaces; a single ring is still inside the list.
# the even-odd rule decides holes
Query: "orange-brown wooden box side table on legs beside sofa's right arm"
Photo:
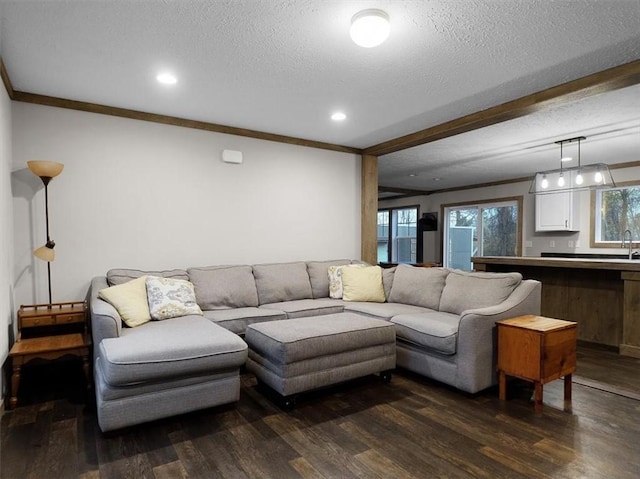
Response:
[[[571,401],[576,370],[577,323],[543,316],[497,321],[500,399],[506,399],[506,376],[535,385],[536,412],[542,412],[543,385],[564,377],[564,400]]]

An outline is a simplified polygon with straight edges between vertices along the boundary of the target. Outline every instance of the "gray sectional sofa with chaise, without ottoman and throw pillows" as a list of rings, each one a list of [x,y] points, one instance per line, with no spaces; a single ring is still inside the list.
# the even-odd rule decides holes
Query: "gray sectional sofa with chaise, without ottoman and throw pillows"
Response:
[[[541,285],[518,273],[400,265],[384,302],[334,299],[330,266],[351,260],[111,270],[89,290],[98,420],[103,431],[236,401],[250,324],[341,312],[395,325],[397,365],[475,393],[496,383],[494,323],[540,314]],[[143,275],[187,279],[202,315],[123,326],[99,292]]]

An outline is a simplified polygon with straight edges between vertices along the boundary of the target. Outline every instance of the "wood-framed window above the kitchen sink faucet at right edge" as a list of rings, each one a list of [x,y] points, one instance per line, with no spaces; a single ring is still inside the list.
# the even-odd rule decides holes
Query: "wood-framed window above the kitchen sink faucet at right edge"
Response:
[[[618,248],[625,230],[640,239],[640,183],[591,192],[591,246]]]

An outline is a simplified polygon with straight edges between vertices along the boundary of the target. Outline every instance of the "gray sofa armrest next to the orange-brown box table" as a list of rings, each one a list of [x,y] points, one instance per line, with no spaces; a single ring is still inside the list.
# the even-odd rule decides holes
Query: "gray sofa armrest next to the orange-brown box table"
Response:
[[[457,388],[475,393],[496,384],[495,323],[525,314],[539,315],[541,294],[539,281],[524,280],[502,303],[462,312],[456,352]]]

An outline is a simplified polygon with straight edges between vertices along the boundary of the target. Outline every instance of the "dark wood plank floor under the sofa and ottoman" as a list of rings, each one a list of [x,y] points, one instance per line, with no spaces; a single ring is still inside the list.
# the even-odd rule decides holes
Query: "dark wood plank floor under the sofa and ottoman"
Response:
[[[245,374],[237,404],[104,436],[77,387],[80,366],[45,365],[25,371],[25,405],[2,417],[0,477],[635,479],[639,366],[581,348],[571,407],[555,381],[542,414],[520,381],[500,402],[495,389],[468,397],[402,371],[390,384],[370,376],[304,396],[284,412]]]

